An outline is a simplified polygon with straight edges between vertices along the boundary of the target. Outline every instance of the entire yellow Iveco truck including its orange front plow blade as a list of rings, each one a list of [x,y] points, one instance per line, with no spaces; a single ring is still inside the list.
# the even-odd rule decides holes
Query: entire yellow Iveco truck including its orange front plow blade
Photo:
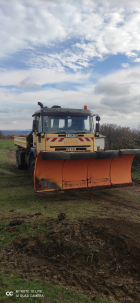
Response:
[[[87,106],[38,105],[40,109],[32,114],[32,131],[26,137],[13,135],[16,167],[30,169],[36,193],[132,185],[131,163],[140,149],[95,151],[98,114]]]

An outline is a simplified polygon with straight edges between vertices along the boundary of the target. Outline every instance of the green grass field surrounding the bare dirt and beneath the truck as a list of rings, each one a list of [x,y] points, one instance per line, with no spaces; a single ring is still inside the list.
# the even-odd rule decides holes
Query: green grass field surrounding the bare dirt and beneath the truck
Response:
[[[112,221],[114,218],[131,217],[134,221],[137,220],[138,216],[131,209],[123,207],[122,211],[122,209],[120,210],[121,205],[112,209],[111,206],[106,206],[103,203],[107,203],[104,202],[106,200],[112,202],[123,198],[129,199],[129,202],[134,200],[135,203],[139,203],[138,191],[136,189],[135,191],[112,189],[110,191],[101,190],[93,194],[81,192],[58,195],[35,195],[29,171],[18,170],[15,166],[15,149],[12,140],[0,140],[0,302],[20,302],[21,300],[48,303],[114,302],[114,297],[112,297],[113,300],[105,298],[105,292],[102,293],[103,295],[98,292],[98,294],[90,294],[88,296],[88,294],[84,295],[84,293],[78,291],[76,287],[70,287],[66,282],[57,285],[55,277],[52,279],[49,278],[47,281],[44,276],[42,279],[38,279],[39,275],[36,275],[35,278],[35,273],[32,278],[30,275],[22,275],[20,274],[21,271],[18,272],[16,270],[16,266],[18,269],[22,259],[18,258],[19,263],[16,261],[16,266],[14,266],[13,261],[20,252],[20,247],[17,244],[18,241],[20,242],[20,239],[24,241],[25,239],[36,240],[37,238],[38,240],[40,235],[47,233],[46,238],[42,236],[42,239],[39,240],[44,251],[50,246],[51,237],[49,239],[48,236],[50,222],[53,222],[53,225],[57,224],[59,226],[57,216],[61,212],[67,214],[67,222],[68,220],[70,222],[74,220],[79,221],[82,218],[86,220],[90,217],[99,219],[111,217]],[[139,174],[136,173],[135,177],[138,179]],[[102,204],[100,204],[101,199]],[[55,242],[59,245],[60,238],[58,236]],[[80,245],[82,246],[82,243],[77,244],[74,242],[68,244],[67,242],[64,246],[64,249],[69,253],[70,260],[77,253],[77,249],[80,250]],[[98,246],[96,246],[95,251],[98,251],[98,249]],[[6,255],[5,259],[3,257],[4,254]],[[30,252],[26,252],[25,250],[24,254],[28,257]],[[22,270],[24,271],[24,268]],[[15,292],[15,290],[21,289],[29,290],[29,292]],[[33,294],[31,290],[34,290],[34,293],[36,290],[36,294],[40,294],[40,297],[30,297]],[[42,292],[37,292],[39,290]],[[6,291],[13,291],[13,295],[10,297],[6,296]],[[25,294],[29,294],[29,296],[23,296]],[[43,294],[43,297],[41,297],[41,294]]]

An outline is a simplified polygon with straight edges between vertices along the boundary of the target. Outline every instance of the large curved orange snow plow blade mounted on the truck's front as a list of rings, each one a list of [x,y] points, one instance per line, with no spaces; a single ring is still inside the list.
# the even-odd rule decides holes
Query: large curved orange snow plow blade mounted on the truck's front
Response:
[[[97,190],[132,185],[131,163],[140,149],[37,154],[34,169],[36,193]]]

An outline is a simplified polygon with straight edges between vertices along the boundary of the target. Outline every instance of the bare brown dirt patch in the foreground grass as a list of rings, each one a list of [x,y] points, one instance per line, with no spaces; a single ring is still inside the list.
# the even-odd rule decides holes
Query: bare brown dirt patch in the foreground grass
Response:
[[[3,251],[6,272],[12,268],[23,278],[68,285],[92,299],[100,295],[123,303],[140,301],[140,223],[92,216],[47,218],[42,225],[46,231],[18,235]]]

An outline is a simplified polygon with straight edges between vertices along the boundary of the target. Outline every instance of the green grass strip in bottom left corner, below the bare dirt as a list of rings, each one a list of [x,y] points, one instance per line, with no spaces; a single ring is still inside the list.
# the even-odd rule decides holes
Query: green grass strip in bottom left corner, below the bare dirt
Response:
[[[111,303],[111,301],[104,300],[102,298],[96,298],[95,300],[91,300],[85,295],[71,291],[67,286],[54,286],[40,279],[21,279],[18,275],[12,274],[12,272],[5,274],[1,271],[0,276],[1,303],[18,303],[21,302],[21,299],[25,300],[26,302],[37,301],[47,303]],[[19,292],[17,292],[18,290]],[[21,292],[21,290],[26,290],[26,292]],[[12,291],[13,295],[10,297],[6,296],[6,291]],[[43,295],[43,297],[31,297],[32,294],[37,293]],[[25,294],[28,294],[28,297],[25,297]]]

